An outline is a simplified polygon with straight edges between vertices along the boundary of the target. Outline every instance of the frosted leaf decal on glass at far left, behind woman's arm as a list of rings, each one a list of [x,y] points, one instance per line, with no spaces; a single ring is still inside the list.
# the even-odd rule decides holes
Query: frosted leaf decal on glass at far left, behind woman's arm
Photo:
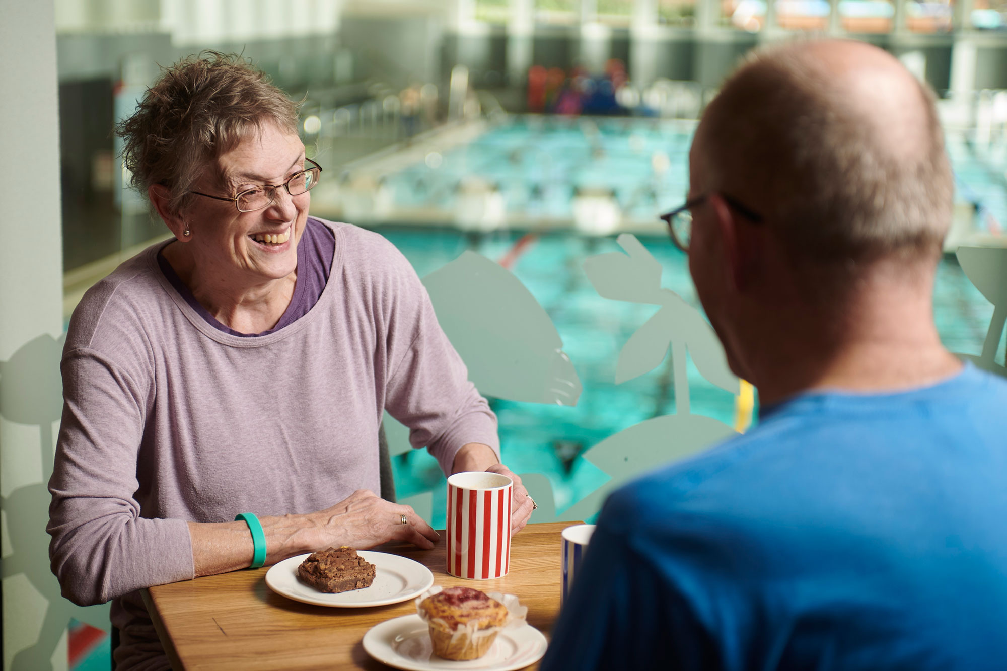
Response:
[[[43,333],[21,346],[8,361],[0,362],[0,415],[10,422],[38,427],[46,481],[19,487],[0,501],[11,550],[3,558],[4,590],[28,611],[38,608],[34,602],[38,599],[45,602],[39,608],[44,616],[37,636],[30,639],[35,643],[13,656],[12,671],[51,668],[50,659],[71,618],[109,629],[108,603],[88,608],[71,603],[62,597],[59,582],[49,570],[49,536],[45,525],[51,497],[47,481],[55,455],[52,423],[62,412],[59,359],[63,340]]]

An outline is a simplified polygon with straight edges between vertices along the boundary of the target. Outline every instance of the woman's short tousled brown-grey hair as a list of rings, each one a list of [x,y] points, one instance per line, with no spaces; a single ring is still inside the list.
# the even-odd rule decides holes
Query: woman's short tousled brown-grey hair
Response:
[[[297,133],[298,104],[240,55],[202,51],[170,68],[147,89],[136,112],[116,127],[132,183],[170,191],[177,211],[213,159],[264,124]]]

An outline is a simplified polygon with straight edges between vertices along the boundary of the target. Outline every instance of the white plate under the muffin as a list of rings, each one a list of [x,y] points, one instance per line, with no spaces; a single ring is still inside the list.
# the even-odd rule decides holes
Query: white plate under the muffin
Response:
[[[452,662],[434,655],[427,624],[411,615],[387,620],[364,635],[364,650],[383,664],[406,671],[479,669],[514,671],[534,664],[546,654],[546,637],[531,625],[505,629],[479,659]]]

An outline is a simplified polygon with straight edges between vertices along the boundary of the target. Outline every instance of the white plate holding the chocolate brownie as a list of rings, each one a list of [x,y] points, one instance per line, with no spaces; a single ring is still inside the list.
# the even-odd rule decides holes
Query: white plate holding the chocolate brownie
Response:
[[[297,577],[297,567],[308,554],[284,559],[266,571],[266,584],[287,598],[315,606],[332,606],[344,609],[363,609],[387,606],[419,596],[434,583],[434,574],[418,561],[387,552],[359,550],[357,552],[375,565],[375,581],[370,587],[329,594],[319,591]]]

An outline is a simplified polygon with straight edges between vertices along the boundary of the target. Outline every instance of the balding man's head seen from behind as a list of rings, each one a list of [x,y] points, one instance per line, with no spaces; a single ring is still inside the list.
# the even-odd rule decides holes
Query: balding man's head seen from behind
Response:
[[[881,275],[929,291],[951,166],[932,95],[878,48],[755,52],[704,113],[690,177],[690,197],[708,195],[693,211],[690,267],[741,375],[743,341],[785,301],[842,310]]]

